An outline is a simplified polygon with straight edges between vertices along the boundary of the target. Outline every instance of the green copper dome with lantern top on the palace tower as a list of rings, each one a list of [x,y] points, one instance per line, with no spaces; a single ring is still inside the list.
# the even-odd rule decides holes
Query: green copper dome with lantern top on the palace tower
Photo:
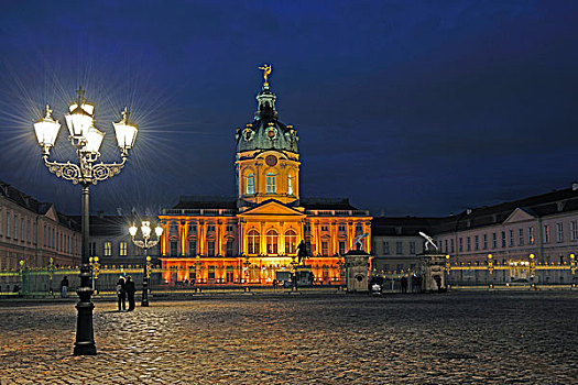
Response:
[[[279,121],[275,110],[275,94],[271,92],[269,84],[257,96],[258,110],[252,123],[244,129],[237,129],[237,152],[253,150],[279,150],[297,153],[297,131],[292,125]]]

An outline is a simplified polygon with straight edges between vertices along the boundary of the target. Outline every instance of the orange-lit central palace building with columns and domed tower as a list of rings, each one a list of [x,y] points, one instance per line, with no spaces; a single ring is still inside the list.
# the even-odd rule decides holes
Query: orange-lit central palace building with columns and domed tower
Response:
[[[238,196],[182,197],[160,216],[166,283],[272,284],[292,270],[303,240],[315,282],[337,284],[341,255],[371,232],[369,212],[348,199],[299,197],[297,131],[279,120],[266,75],[253,122],[237,129]]]

